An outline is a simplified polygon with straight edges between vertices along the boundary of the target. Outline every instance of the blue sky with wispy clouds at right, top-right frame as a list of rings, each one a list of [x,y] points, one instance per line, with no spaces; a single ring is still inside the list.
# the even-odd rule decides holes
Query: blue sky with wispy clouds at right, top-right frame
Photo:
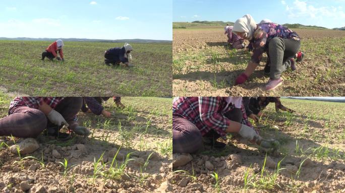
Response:
[[[174,22],[235,22],[245,14],[250,14],[257,23],[268,18],[278,24],[345,27],[345,0],[174,0],[173,9]]]

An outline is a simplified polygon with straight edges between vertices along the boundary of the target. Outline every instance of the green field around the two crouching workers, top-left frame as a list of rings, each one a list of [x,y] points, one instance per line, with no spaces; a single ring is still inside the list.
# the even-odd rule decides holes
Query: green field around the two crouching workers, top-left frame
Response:
[[[27,95],[172,95],[169,43],[131,43],[133,68],[104,64],[104,51],[123,43],[65,42],[65,62],[39,60],[50,43],[0,41],[0,85]]]

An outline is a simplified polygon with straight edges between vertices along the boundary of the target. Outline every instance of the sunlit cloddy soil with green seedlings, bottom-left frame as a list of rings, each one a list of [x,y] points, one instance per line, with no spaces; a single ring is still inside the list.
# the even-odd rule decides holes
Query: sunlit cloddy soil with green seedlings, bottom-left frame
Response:
[[[11,99],[0,92],[0,118],[7,116]],[[116,113],[112,119],[80,112],[79,124],[91,131],[86,139],[74,136],[58,141],[41,135],[36,139],[40,146],[36,151],[20,155],[8,148],[20,139],[0,138],[0,191],[165,189],[171,170],[171,99],[123,97],[122,103],[125,109],[117,108],[111,100],[103,104]]]

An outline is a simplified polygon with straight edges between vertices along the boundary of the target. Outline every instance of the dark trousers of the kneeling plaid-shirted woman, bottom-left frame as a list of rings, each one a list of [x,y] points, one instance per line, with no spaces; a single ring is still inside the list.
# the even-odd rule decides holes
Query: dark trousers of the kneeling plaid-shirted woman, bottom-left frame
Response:
[[[81,106],[82,98],[69,97],[62,100],[54,110],[65,118],[70,127],[75,127],[77,123],[74,121],[74,117]],[[0,136],[37,137],[45,128],[49,127],[55,127],[55,125],[40,110],[16,107],[13,114],[0,119]]]

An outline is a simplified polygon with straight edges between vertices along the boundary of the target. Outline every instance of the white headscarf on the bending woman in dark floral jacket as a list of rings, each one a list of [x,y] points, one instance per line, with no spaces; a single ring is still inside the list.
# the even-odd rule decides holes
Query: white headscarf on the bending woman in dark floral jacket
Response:
[[[233,31],[235,34],[236,32],[245,32],[245,38],[251,40],[253,38],[255,28],[256,22],[251,15],[247,14],[236,20]]]

